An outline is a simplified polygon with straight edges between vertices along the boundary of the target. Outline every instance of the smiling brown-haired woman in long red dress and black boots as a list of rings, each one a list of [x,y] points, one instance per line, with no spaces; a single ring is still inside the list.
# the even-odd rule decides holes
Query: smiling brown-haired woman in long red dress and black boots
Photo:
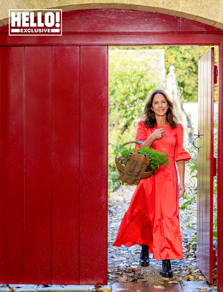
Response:
[[[183,127],[177,123],[174,105],[165,91],[154,90],[144,108],[145,119],[138,122],[137,147],[167,152],[169,164],[140,180],[123,216],[113,246],[142,246],[139,263],[149,265],[149,252],[162,260],[161,277],[173,277],[170,260],[182,259],[179,199],[184,195],[185,162],[191,159],[183,148]],[[177,163],[177,168],[175,165]],[[178,184],[177,169],[180,177]]]

